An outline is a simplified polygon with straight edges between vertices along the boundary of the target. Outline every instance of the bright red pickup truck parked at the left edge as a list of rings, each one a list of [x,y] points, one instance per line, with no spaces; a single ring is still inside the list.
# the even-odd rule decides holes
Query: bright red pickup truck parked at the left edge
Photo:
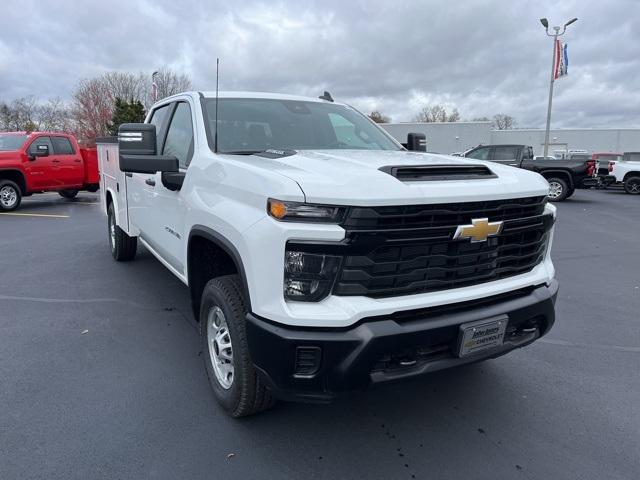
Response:
[[[58,192],[73,198],[100,184],[95,148],[80,148],[73,135],[0,133],[0,211],[15,210],[22,197]]]

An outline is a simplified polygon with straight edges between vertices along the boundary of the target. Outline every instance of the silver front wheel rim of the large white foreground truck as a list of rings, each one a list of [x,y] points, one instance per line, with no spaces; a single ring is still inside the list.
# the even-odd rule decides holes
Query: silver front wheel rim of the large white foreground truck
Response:
[[[235,374],[233,345],[227,319],[218,306],[211,308],[207,316],[207,345],[216,380],[228,390],[233,385]]]

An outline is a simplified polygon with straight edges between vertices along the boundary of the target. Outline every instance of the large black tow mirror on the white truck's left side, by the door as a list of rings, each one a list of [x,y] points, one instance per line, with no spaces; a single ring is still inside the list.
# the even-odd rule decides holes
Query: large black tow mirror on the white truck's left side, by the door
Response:
[[[157,155],[156,126],[123,123],[118,129],[120,170],[130,173],[178,172],[178,159]]]

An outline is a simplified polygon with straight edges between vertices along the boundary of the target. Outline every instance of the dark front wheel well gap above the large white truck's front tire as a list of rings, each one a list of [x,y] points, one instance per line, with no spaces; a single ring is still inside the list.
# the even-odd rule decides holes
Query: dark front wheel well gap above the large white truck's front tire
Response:
[[[187,257],[191,308],[196,321],[199,321],[202,291],[207,282],[239,272],[234,259],[224,248],[201,235],[196,234],[189,239]]]

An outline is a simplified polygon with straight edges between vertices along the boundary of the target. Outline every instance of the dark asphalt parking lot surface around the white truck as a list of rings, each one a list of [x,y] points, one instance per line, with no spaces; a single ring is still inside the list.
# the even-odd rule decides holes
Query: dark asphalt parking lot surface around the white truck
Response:
[[[112,260],[97,195],[27,198],[0,215],[0,478],[638,478],[640,198],[558,207],[541,341],[233,420],[187,288],[142,247]]]

